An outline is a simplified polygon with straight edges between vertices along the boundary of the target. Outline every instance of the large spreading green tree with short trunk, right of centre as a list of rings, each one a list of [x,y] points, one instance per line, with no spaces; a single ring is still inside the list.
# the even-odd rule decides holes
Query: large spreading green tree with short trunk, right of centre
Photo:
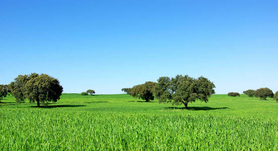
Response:
[[[187,109],[189,102],[208,102],[208,97],[215,93],[214,88],[215,85],[204,77],[194,79],[188,75],[177,75],[171,79],[159,78],[154,87],[154,94],[160,103],[183,104]]]

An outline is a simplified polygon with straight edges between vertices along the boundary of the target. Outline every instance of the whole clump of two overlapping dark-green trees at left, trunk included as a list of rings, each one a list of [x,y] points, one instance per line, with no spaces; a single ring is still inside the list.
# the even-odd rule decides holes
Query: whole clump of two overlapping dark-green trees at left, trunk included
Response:
[[[63,91],[57,79],[47,74],[37,73],[19,75],[9,88],[17,102],[24,102],[28,99],[30,103],[37,102],[38,107],[40,103],[47,101],[56,102]]]

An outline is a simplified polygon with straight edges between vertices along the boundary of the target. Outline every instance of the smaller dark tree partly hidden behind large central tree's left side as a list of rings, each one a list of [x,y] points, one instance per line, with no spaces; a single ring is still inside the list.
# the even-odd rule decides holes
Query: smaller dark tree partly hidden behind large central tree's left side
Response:
[[[129,93],[134,98],[150,102],[150,100],[154,100],[153,88],[155,85],[155,82],[146,82],[145,84],[132,87]]]

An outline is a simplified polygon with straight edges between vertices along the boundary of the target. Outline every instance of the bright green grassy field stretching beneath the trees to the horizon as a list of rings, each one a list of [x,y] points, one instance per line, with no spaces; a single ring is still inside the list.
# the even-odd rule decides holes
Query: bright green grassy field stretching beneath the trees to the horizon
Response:
[[[278,103],[213,95],[189,109],[126,94],[0,103],[0,150],[277,150]]]

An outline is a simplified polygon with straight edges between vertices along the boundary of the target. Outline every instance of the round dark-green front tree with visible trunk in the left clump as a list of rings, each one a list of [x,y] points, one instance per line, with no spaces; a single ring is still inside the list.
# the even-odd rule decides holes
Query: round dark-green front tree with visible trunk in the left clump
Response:
[[[57,102],[62,91],[63,88],[57,79],[47,74],[37,74],[36,77],[26,82],[23,94],[30,100],[30,103],[37,102],[37,107],[40,107],[40,103]]]

